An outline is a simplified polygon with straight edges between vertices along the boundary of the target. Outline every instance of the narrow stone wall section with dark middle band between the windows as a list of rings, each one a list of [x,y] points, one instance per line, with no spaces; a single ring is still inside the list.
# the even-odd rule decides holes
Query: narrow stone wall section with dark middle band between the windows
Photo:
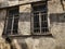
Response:
[[[22,35],[30,34],[30,4],[20,7],[18,33]]]

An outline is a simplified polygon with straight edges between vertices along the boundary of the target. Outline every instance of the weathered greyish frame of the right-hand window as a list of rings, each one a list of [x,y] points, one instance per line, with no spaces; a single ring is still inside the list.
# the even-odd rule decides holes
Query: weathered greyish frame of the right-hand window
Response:
[[[34,5],[32,5],[34,4]],[[32,35],[50,35],[50,28],[49,28],[49,21],[47,21],[48,22],[48,29],[49,29],[49,32],[47,32],[47,33],[41,33],[41,23],[40,23],[40,33],[35,33],[34,32],[34,9],[32,9],[32,7],[37,7],[37,5],[41,5],[41,4],[44,4],[44,3],[38,3],[38,4],[36,4],[36,3],[32,3],[31,4],[31,33],[32,33]],[[47,10],[48,11],[48,10]],[[40,17],[40,14],[41,13],[39,13],[39,20],[41,20],[41,17]],[[48,12],[47,12],[47,17],[48,17]],[[49,19],[49,17],[48,17]]]

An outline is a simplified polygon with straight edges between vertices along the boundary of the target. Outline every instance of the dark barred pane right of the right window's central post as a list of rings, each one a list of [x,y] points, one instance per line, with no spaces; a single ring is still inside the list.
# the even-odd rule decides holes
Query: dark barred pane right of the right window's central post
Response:
[[[41,33],[49,32],[48,28],[48,16],[47,14],[41,14]]]

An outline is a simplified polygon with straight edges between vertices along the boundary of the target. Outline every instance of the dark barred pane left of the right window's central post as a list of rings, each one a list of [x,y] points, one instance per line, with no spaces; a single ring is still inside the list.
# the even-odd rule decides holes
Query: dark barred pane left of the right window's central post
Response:
[[[39,13],[38,12],[34,13],[34,32],[35,33],[40,32]]]

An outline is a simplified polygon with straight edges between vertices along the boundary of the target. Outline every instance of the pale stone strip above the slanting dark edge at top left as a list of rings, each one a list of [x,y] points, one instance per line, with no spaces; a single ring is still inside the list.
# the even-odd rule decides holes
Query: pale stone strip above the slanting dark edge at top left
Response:
[[[23,3],[25,4],[36,1],[41,1],[41,0],[1,0],[0,8],[14,7],[14,5],[18,5]]]

